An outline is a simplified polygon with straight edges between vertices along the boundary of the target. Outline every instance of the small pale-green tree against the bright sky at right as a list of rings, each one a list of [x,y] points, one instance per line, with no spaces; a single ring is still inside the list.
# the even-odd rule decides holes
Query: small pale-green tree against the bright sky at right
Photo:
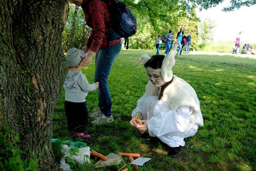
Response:
[[[215,26],[215,22],[208,18],[205,18],[204,21],[199,23],[199,39],[204,45],[207,41],[213,40],[212,34]]]

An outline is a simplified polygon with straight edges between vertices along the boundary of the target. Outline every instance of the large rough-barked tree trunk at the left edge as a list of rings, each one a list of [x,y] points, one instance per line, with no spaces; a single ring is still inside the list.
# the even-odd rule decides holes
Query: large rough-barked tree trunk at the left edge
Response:
[[[9,124],[20,135],[22,159],[45,147],[38,166],[57,170],[52,113],[67,72],[61,46],[67,0],[5,0],[0,11],[0,131]]]

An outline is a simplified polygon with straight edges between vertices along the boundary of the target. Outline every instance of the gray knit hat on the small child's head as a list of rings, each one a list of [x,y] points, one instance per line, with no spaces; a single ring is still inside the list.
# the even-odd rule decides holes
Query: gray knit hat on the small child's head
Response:
[[[81,58],[82,54],[80,52],[81,50],[78,50],[76,48],[71,48],[67,51],[66,54],[66,61],[68,67],[76,67],[80,65],[80,62],[83,58]]]

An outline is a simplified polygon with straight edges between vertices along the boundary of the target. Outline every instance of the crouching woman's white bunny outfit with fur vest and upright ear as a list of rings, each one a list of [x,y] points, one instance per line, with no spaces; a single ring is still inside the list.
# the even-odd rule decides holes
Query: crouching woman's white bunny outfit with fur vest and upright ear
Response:
[[[173,49],[177,48],[173,47]],[[166,57],[171,59],[172,63],[175,54],[171,53],[173,58],[170,58],[171,55],[169,53]],[[164,59],[168,59],[166,57]],[[169,70],[171,70],[174,64],[163,64],[161,75],[166,81],[170,78],[168,74],[172,76],[172,72],[169,72],[163,66],[168,66]],[[163,70],[165,71],[162,72]],[[196,92],[187,82],[175,75],[173,75],[172,82],[164,89],[161,100],[157,100],[160,89],[161,87],[155,87],[152,82],[148,82],[146,93],[137,102],[137,106],[132,112],[132,117],[137,112],[141,112],[143,118],[147,120],[150,136],[157,136],[171,147],[184,146],[183,139],[193,136],[197,131],[198,125],[204,125]]]

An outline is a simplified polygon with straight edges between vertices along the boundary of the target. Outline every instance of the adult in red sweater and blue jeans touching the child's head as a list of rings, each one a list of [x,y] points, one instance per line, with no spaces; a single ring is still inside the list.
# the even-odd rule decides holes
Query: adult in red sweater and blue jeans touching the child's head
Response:
[[[94,125],[113,122],[108,75],[121,51],[121,38],[112,30],[113,21],[105,2],[90,0],[69,0],[69,2],[82,7],[86,24],[92,28],[91,35],[83,48],[83,51],[89,51],[89,53],[83,57],[84,59],[80,63],[82,67],[88,66],[96,54],[94,82],[99,82],[99,108],[89,116],[91,119],[95,119],[91,123]]]

